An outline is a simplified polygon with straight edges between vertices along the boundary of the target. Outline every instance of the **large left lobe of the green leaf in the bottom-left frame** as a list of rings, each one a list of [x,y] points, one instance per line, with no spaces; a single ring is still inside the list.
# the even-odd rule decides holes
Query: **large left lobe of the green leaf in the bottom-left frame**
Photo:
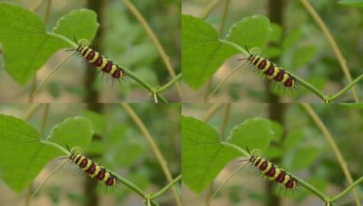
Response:
[[[0,176],[18,194],[54,157],[64,155],[41,142],[36,128],[16,117],[0,114]]]

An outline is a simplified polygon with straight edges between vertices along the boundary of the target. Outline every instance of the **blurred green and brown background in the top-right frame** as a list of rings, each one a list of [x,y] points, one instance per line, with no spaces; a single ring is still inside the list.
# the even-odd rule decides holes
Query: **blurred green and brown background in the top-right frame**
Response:
[[[216,1],[183,0],[181,12],[200,17],[210,2]],[[225,1],[219,2],[205,19],[216,30],[219,30],[225,7]],[[337,2],[309,1],[327,25],[342,56],[347,60],[352,78],[355,79],[362,74],[363,60],[360,54],[363,51],[363,39],[360,33],[363,14],[359,8],[339,5]],[[337,93],[348,84],[331,45],[327,43],[327,38],[300,1],[231,0],[225,19],[223,38],[234,23],[241,21],[245,16],[256,14],[267,16],[271,22],[274,22],[272,23],[272,28],[275,30],[272,34],[274,38],[265,48],[261,48],[262,56],[273,60],[287,71],[292,71],[325,94]],[[240,62],[236,61],[239,58],[245,56],[232,56],[221,65],[213,76],[209,93],[212,93],[219,82],[239,65]],[[294,93],[287,89],[284,95],[283,89],[277,93],[278,85],[272,91],[273,85],[273,82],[271,84],[271,81],[257,76],[250,67],[244,65],[219,88],[210,102],[320,102],[314,93],[304,87],[298,87],[298,91]],[[362,84],[355,85],[358,96],[362,97]],[[184,83],[182,90],[183,102],[203,102],[206,84],[194,91]],[[336,100],[336,102],[351,101],[351,91]]]

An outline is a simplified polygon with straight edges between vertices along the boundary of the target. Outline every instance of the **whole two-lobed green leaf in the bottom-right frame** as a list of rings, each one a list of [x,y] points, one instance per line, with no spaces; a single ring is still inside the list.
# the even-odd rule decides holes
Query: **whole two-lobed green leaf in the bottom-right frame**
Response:
[[[223,142],[212,126],[192,117],[182,117],[181,172],[184,183],[190,190],[201,192],[229,161],[246,154],[241,148],[265,147],[272,134],[267,119],[248,119],[236,126],[228,141]],[[253,138],[259,142],[252,141]]]

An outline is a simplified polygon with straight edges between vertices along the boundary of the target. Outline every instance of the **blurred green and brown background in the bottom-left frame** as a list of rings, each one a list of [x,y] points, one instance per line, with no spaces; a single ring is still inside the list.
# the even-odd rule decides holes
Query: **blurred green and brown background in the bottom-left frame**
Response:
[[[38,130],[41,128],[44,104],[28,120]],[[162,155],[173,177],[181,173],[180,146],[180,104],[130,104],[140,117]],[[0,113],[23,117],[30,104],[0,104]],[[102,104],[102,113],[87,109],[86,104],[50,104],[43,139],[50,130],[67,117],[84,116],[94,123],[94,140],[83,154],[95,157],[94,160],[105,168],[128,179],[146,193],[157,192],[168,184],[153,150],[140,129],[130,119],[119,104]],[[79,137],[82,138],[82,137]],[[1,152],[1,151],[0,151]],[[19,155],[19,154],[18,154]],[[14,158],[17,154],[14,154]],[[33,190],[50,175],[63,161],[54,159],[39,173],[33,183]],[[81,175],[72,164],[65,164],[43,185],[30,205],[89,205],[86,200],[94,198],[85,190],[96,190],[98,202],[93,205],[144,205],[143,199],[122,184],[115,192],[108,188],[107,194],[99,181]],[[86,181],[96,183],[96,187],[85,188]],[[180,194],[180,183],[175,185]],[[89,187],[89,186],[88,186]],[[24,205],[27,190],[17,195],[0,179],[0,205]],[[159,205],[175,205],[175,198],[168,190],[156,200]]]

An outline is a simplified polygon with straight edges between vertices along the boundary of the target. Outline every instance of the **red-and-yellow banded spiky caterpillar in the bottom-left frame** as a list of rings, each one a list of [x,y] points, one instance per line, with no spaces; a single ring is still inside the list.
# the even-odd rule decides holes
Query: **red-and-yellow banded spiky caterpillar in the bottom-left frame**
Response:
[[[87,159],[87,157],[83,155],[79,155],[76,153],[73,153],[68,145],[67,149],[69,152],[71,152],[71,156],[61,158],[61,159],[70,159],[75,165],[77,165],[81,170],[83,170],[85,173],[87,173],[91,178],[95,178],[104,185],[106,185],[106,191],[107,187],[118,187],[116,184],[118,184],[118,179],[115,175],[113,175],[111,172],[108,172],[106,168],[103,168],[102,166],[98,165],[98,163],[94,162],[91,159]]]

